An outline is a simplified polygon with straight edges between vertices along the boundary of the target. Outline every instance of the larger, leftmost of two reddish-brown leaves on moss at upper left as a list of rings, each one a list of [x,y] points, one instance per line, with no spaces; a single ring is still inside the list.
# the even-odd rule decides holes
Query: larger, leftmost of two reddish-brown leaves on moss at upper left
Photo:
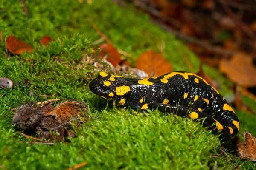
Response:
[[[25,42],[16,38],[13,35],[9,35],[9,37],[6,39],[6,46],[8,51],[12,52],[13,54],[21,54],[26,51],[30,53],[34,50],[31,45],[26,44]]]

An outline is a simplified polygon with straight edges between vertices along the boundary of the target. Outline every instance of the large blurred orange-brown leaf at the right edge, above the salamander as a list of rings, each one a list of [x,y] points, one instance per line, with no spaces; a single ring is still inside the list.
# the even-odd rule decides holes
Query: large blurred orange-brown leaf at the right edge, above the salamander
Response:
[[[239,52],[230,60],[221,59],[219,69],[236,84],[244,87],[256,86],[256,68],[253,65],[253,58],[246,54]]]

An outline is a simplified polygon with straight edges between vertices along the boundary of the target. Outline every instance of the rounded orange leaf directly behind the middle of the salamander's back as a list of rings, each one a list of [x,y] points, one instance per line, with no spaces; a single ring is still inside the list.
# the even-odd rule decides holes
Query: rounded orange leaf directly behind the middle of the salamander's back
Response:
[[[144,52],[135,63],[136,68],[144,70],[148,75],[160,76],[172,71],[172,65],[154,50]]]

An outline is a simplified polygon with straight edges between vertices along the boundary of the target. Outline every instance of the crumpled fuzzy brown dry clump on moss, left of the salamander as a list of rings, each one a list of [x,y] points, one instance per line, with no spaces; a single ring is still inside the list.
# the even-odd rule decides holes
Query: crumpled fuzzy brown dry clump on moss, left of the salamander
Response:
[[[69,130],[70,122],[78,119],[78,115],[86,119],[86,111],[86,104],[78,101],[62,102],[56,108],[51,104],[41,108],[36,103],[29,103],[17,109],[12,124],[25,133],[39,134],[42,139],[64,140],[75,137]],[[81,121],[76,125],[79,124]]]

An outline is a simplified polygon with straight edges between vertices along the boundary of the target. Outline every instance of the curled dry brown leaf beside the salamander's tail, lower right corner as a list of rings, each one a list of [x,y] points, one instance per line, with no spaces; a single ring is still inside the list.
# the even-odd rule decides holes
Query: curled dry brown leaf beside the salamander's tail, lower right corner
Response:
[[[242,159],[250,159],[251,161],[256,161],[256,139],[255,137],[244,130],[243,133],[244,136],[244,142],[241,141],[241,139],[237,138],[237,152],[239,154],[239,157]]]

